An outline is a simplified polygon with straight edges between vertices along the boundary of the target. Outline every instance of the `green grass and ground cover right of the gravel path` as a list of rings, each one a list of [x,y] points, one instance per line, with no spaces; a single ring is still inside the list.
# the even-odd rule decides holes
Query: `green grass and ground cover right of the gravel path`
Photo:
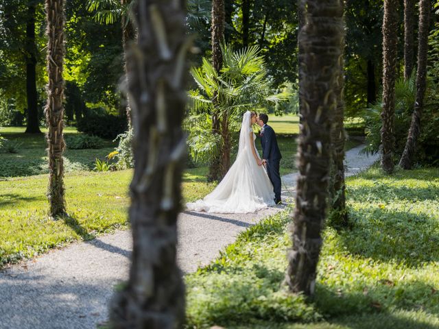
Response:
[[[439,328],[439,169],[347,182],[353,228],[324,230],[312,300],[281,285],[286,210],[186,277],[187,328]]]

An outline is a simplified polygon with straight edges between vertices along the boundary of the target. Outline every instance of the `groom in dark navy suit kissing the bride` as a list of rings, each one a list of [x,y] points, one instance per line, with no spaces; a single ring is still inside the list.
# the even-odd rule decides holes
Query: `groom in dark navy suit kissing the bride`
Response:
[[[261,129],[261,146],[262,146],[262,164],[267,168],[268,178],[273,184],[274,202],[281,204],[281,174],[279,173],[279,164],[281,162],[281,151],[276,141],[276,134],[270,125],[268,125],[268,115],[259,114],[257,119]]]

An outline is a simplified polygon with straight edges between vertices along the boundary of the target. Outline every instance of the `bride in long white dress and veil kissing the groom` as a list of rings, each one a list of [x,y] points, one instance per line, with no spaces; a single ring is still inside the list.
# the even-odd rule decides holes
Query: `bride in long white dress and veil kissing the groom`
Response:
[[[247,213],[274,206],[273,186],[254,146],[256,119],[256,113],[244,113],[235,162],[212,193],[186,204],[188,210]]]

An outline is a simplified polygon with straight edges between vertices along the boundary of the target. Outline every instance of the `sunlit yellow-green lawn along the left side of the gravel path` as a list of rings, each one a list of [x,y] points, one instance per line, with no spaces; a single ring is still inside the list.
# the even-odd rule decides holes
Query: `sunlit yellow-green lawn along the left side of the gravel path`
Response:
[[[205,169],[188,169],[183,177],[185,202],[215,187],[204,182]],[[0,181],[0,267],[74,240],[90,240],[115,228],[126,228],[128,185],[132,171],[67,173],[69,218],[47,216],[47,175]]]

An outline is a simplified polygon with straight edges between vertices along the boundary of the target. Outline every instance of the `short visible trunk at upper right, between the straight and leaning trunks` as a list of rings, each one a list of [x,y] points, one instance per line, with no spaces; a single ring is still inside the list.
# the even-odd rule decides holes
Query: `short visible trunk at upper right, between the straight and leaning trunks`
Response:
[[[414,66],[414,0],[404,0],[404,80],[412,75]]]

